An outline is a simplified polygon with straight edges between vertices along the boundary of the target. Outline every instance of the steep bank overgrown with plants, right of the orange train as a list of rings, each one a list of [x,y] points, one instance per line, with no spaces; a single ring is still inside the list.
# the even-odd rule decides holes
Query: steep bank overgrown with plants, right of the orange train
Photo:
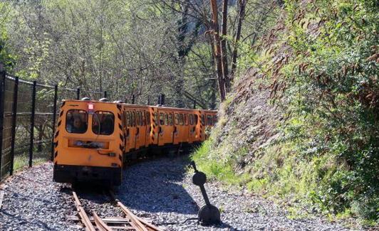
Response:
[[[310,213],[378,222],[377,1],[286,1],[239,65],[211,139],[193,159]],[[298,210],[293,210],[298,212]]]

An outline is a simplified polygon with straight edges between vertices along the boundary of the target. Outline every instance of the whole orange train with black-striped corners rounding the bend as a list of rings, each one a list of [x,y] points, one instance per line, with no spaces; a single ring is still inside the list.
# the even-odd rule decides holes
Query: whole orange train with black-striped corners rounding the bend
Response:
[[[199,144],[216,121],[214,110],[63,100],[54,136],[54,181],[118,186],[128,159]]]

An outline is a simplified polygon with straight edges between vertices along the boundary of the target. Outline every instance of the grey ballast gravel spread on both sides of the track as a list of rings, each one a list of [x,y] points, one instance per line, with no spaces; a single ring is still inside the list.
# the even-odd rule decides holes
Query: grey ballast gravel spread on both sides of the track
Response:
[[[219,183],[206,183],[209,200],[221,211],[222,224],[204,227],[197,220],[204,199],[187,173],[186,158],[141,161],[123,171],[123,184],[116,197],[135,215],[152,220],[164,230],[347,230],[321,217],[289,219],[274,203],[247,191],[227,191]],[[199,169],[201,171],[201,169]],[[3,185],[5,195],[0,210],[0,230],[84,230],[78,221],[71,186],[55,183],[53,164],[28,168]],[[100,217],[122,216],[101,189],[78,189],[88,212]]]

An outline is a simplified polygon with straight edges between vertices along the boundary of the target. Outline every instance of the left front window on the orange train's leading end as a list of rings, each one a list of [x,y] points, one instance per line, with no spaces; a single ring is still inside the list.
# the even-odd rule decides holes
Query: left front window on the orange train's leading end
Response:
[[[87,131],[88,114],[83,110],[71,109],[66,114],[66,130],[70,133],[83,134]]]

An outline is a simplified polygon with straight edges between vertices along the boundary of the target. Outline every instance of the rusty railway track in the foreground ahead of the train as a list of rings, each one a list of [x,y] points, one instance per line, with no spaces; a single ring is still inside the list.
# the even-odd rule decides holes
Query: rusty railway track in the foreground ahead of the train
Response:
[[[78,210],[78,215],[86,231],[110,231],[110,230],[136,230],[136,231],[162,231],[159,227],[152,225],[150,222],[134,215],[123,203],[121,203],[112,191],[109,192],[115,204],[123,211],[125,217],[108,217],[101,218],[93,212],[90,217],[83,208],[78,195],[73,191],[73,198]]]

